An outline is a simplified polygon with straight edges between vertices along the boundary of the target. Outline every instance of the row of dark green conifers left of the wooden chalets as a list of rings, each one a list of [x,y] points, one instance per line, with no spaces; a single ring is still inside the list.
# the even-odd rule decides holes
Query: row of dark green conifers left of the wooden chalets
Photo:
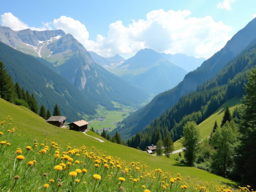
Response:
[[[46,110],[43,104],[39,110],[38,102],[34,94],[30,94],[28,90],[25,91],[23,87],[20,87],[18,82],[13,83],[2,61],[0,61],[0,97],[7,102],[25,106],[44,119],[49,119],[52,115],[61,115],[57,104],[54,106],[53,114],[49,109]]]

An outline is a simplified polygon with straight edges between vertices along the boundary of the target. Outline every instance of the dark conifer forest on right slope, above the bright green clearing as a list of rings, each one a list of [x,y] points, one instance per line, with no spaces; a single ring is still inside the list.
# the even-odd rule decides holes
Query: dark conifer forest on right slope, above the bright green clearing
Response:
[[[216,77],[198,86],[196,91],[182,96],[171,109],[128,139],[128,146],[144,149],[158,139],[171,135],[173,141],[180,139],[187,121],[200,124],[224,102],[233,97],[242,97],[247,75],[256,65],[256,43],[245,49],[229,62]]]

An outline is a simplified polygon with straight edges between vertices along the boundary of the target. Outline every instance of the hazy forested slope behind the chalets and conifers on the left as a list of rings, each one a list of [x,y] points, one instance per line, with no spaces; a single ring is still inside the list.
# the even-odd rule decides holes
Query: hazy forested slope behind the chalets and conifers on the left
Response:
[[[81,119],[79,113],[95,113],[96,106],[80,90],[34,57],[0,42],[0,61],[4,63],[13,82],[18,82],[34,94],[39,106],[43,104],[52,111],[55,104],[58,104],[68,121]]]

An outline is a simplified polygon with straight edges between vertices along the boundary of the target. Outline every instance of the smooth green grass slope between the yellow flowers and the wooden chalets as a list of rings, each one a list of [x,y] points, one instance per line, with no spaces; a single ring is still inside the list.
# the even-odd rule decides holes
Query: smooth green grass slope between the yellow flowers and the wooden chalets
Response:
[[[11,121],[10,129],[17,128],[16,134],[18,134],[18,137],[17,139],[13,139],[11,141],[11,145],[8,146],[8,150],[15,151],[17,148],[22,148],[23,151],[26,151],[26,149],[24,149],[25,146],[33,146],[34,139],[36,139],[39,144],[48,143],[48,145],[51,145],[51,142],[54,141],[58,143],[58,146],[61,149],[64,150],[65,148],[67,148],[67,146],[70,146],[72,148],[79,148],[81,146],[85,146],[87,149],[91,149],[92,147],[94,147],[99,150],[99,152],[112,156],[115,159],[119,159],[119,161],[126,162],[126,166],[128,166],[131,162],[140,162],[141,165],[146,165],[148,170],[154,171],[155,169],[160,168],[162,172],[166,175],[168,173],[174,177],[176,177],[177,173],[179,173],[184,179],[184,182],[187,182],[186,178],[190,177],[195,179],[194,182],[198,183],[204,183],[204,181],[208,181],[209,183],[213,182],[213,186],[220,186],[223,184],[233,186],[236,185],[234,181],[216,176],[214,174],[197,168],[188,167],[178,161],[175,161],[172,158],[166,158],[164,156],[152,156],[141,150],[122,146],[104,139],[103,140],[105,142],[101,143],[92,137],[84,135],[81,132],[54,127],[50,124],[47,124],[44,119],[32,113],[27,108],[10,104],[3,99],[0,99],[0,106],[1,121],[5,120],[7,115],[9,115],[10,118],[13,119]],[[221,115],[221,113],[222,109],[217,112],[217,115]],[[211,128],[212,126],[210,127],[210,129]],[[90,135],[94,135],[94,133],[90,132]],[[95,136],[99,137],[97,134],[95,134]],[[89,172],[90,168],[87,169]],[[1,170],[0,168],[0,172],[3,173],[4,170]],[[143,190],[141,189],[136,191]]]

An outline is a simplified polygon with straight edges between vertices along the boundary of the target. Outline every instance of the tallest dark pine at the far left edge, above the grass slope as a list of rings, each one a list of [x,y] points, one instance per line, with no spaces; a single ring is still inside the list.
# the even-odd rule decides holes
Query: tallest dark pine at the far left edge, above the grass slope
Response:
[[[0,62],[0,97],[11,103],[17,98],[15,86],[11,80],[11,76],[8,75],[3,62]]]

